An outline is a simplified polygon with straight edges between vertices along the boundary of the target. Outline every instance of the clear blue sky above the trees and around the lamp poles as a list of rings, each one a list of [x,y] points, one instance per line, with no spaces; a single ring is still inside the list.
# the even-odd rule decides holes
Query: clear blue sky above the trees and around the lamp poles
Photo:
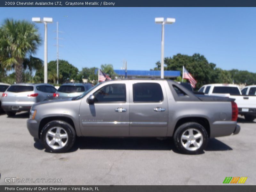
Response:
[[[177,53],[203,54],[222,69],[256,72],[256,8],[0,8],[5,18],[31,20],[52,17],[48,25],[48,62],[56,60],[56,21],[59,21],[60,59],[79,70],[127,61],[128,69],[149,70],[161,57],[161,25],[155,17],[171,17],[165,25],[164,57]],[[44,39],[44,25],[36,24]],[[44,43],[36,57],[44,59]]]

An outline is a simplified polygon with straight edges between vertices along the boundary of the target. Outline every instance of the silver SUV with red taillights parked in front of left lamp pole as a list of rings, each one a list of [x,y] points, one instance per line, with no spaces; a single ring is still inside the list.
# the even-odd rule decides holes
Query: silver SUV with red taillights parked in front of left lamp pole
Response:
[[[2,94],[2,108],[8,116],[15,116],[16,112],[29,111],[37,102],[53,99],[54,92],[51,84],[13,84]]]

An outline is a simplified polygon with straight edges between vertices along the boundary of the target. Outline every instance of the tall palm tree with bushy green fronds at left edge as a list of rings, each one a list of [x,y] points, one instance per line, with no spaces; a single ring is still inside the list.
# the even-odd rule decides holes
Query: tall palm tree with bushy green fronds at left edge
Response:
[[[35,25],[26,20],[6,19],[0,28],[0,62],[7,69],[14,69],[16,82],[22,82],[23,68],[35,68],[38,60],[31,56],[41,44]],[[23,66],[24,65],[24,66]],[[26,67],[25,67],[26,66]]]

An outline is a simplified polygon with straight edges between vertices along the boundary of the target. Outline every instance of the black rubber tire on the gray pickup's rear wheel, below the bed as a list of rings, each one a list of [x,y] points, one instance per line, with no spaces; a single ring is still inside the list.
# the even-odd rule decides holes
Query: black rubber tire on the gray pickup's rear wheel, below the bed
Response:
[[[186,139],[185,140],[181,139],[182,134],[187,133],[188,130],[191,128],[193,129],[193,134],[194,134],[194,132],[196,133],[199,131],[203,137],[203,139],[200,139],[200,138],[196,139],[196,141],[202,140],[201,146],[196,150],[193,149],[193,146],[194,146],[193,143],[188,146],[188,148],[191,147],[190,150],[185,148],[183,145],[185,145],[186,142],[188,142],[188,140],[186,141]],[[207,143],[208,143],[208,134],[207,134],[207,131],[205,130],[205,128],[201,124],[196,123],[196,122],[188,122],[188,123],[184,123],[178,127],[178,129],[175,131],[175,133],[173,135],[173,140],[174,140],[174,144],[175,144],[176,148],[181,153],[194,155],[194,154],[199,154],[199,153],[203,152],[204,148],[207,146]],[[191,141],[189,141],[189,142],[191,142]],[[194,147],[196,148],[196,146],[194,146]]]

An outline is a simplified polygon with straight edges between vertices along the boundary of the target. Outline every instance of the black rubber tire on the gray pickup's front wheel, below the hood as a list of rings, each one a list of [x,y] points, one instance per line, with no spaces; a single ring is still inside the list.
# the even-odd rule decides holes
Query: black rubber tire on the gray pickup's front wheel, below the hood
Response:
[[[66,142],[65,146],[62,147],[62,148],[54,149],[50,145],[48,145],[48,143],[46,141],[46,134],[53,127],[60,127],[60,128],[64,129],[67,132],[68,139],[67,139],[67,142]],[[44,126],[44,128],[41,131],[40,139],[41,139],[41,141],[42,141],[42,143],[43,143],[43,145],[44,145],[44,147],[47,151],[50,151],[50,152],[53,152],[53,153],[63,153],[63,152],[67,152],[74,145],[75,140],[76,140],[76,132],[75,132],[74,128],[70,124],[68,124],[67,122],[60,121],[60,120],[55,120],[55,121],[51,121],[51,122],[47,123]],[[48,140],[49,140],[49,136],[48,136]],[[58,144],[58,143],[55,142],[55,144]]]

